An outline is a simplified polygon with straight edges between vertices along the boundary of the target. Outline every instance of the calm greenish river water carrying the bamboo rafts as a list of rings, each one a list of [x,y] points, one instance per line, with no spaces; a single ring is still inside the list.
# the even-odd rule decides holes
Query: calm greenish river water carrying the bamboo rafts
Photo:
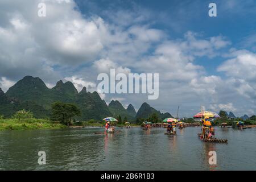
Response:
[[[102,128],[0,132],[1,170],[256,170],[256,129],[216,129],[228,143],[204,143],[200,127],[177,130],[117,129],[98,135]],[[38,164],[46,152],[46,165]],[[217,152],[217,165],[208,163]]]

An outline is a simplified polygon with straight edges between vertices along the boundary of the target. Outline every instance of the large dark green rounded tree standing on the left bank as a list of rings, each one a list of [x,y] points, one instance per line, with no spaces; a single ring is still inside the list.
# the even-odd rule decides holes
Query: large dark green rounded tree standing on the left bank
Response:
[[[52,104],[52,117],[54,121],[60,121],[66,125],[71,125],[73,117],[81,114],[80,109],[74,104],[65,104],[63,102],[54,102]]]

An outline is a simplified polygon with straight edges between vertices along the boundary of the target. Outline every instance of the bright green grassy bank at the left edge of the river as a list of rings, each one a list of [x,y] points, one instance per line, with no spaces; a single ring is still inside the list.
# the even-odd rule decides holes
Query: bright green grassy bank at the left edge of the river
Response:
[[[0,131],[3,130],[35,130],[35,129],[63,129],[67,126],[47,119],[0,119]]]

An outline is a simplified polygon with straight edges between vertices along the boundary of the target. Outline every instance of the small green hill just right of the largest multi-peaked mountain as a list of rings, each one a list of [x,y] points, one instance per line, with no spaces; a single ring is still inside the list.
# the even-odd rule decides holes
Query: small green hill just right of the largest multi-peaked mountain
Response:
[[[114,115],[115,118],[120,115],[123,118],[127,117],[128,121],[134,121],[134,116],[129,114],[129,112],[123,107],[119,101],[111,101],[109,103],[109,110]]]

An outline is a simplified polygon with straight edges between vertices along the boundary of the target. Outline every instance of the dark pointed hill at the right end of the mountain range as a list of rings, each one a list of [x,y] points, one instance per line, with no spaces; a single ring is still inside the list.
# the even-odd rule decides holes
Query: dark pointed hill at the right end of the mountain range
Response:
[[[154,109],[153,107],[151,107],[149,104],[147,104],[146,102],[144,102],[141,107],[138,110],[138,113],[136,115],[136,118],[148,118],[150,117],[151,114],[156,113],[158,114],[158,117],[160,119],[164,119],[164,118],[172,118],[172,115],[170,113],[160,113],[160,111]]]

